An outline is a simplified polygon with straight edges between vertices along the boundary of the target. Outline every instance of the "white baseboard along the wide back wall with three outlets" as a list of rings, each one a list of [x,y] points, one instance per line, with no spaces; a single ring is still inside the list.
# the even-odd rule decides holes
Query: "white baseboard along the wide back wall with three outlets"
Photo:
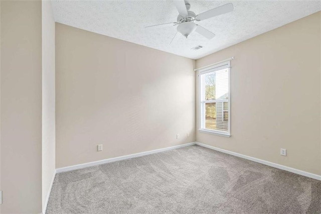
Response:
[[[147,151],[147,152],[140,152],[140,153],[131,154],[131,155],[125,155],[125,156],[120,156],[120,157],[115,157],[115,158],[108,158],[108,159],[104,159],[104,160],[100,160],[100,161],[94,161],[94,162],[89,162],[89,163],[83,163],[83,164],[78,164],[78,165],[73,165],[73,166],[62,167],[62,168],[56,169],[56,172],[60,173],[60,172],[67,172],[67,171],[71,171],[71,170],[75,170],[75,169],[82,169],[82,168],[96,166],[96,165],[100,165],[100,164],[104,164],[104,163],[110,163],[110,162],[130,159],[130,158],[141,157],[144,155],[150,155],[150,154],[154,154],[154,153],[158,153],[158,152],[164,152],[164,151],[168,151],[168,150],[183,148],[183,147],[187,147],[187,146],[193,146],[195,144],[196,144],[195,142],[192,142],[192,143],[187,143],[187,144],[182,144],[182,145],[177,145],[177,146],[171,146],[171,147],[167,147],[167,148],[163,148],[163,149],[155,149],[155,150],[151,150],[151,151]]]

